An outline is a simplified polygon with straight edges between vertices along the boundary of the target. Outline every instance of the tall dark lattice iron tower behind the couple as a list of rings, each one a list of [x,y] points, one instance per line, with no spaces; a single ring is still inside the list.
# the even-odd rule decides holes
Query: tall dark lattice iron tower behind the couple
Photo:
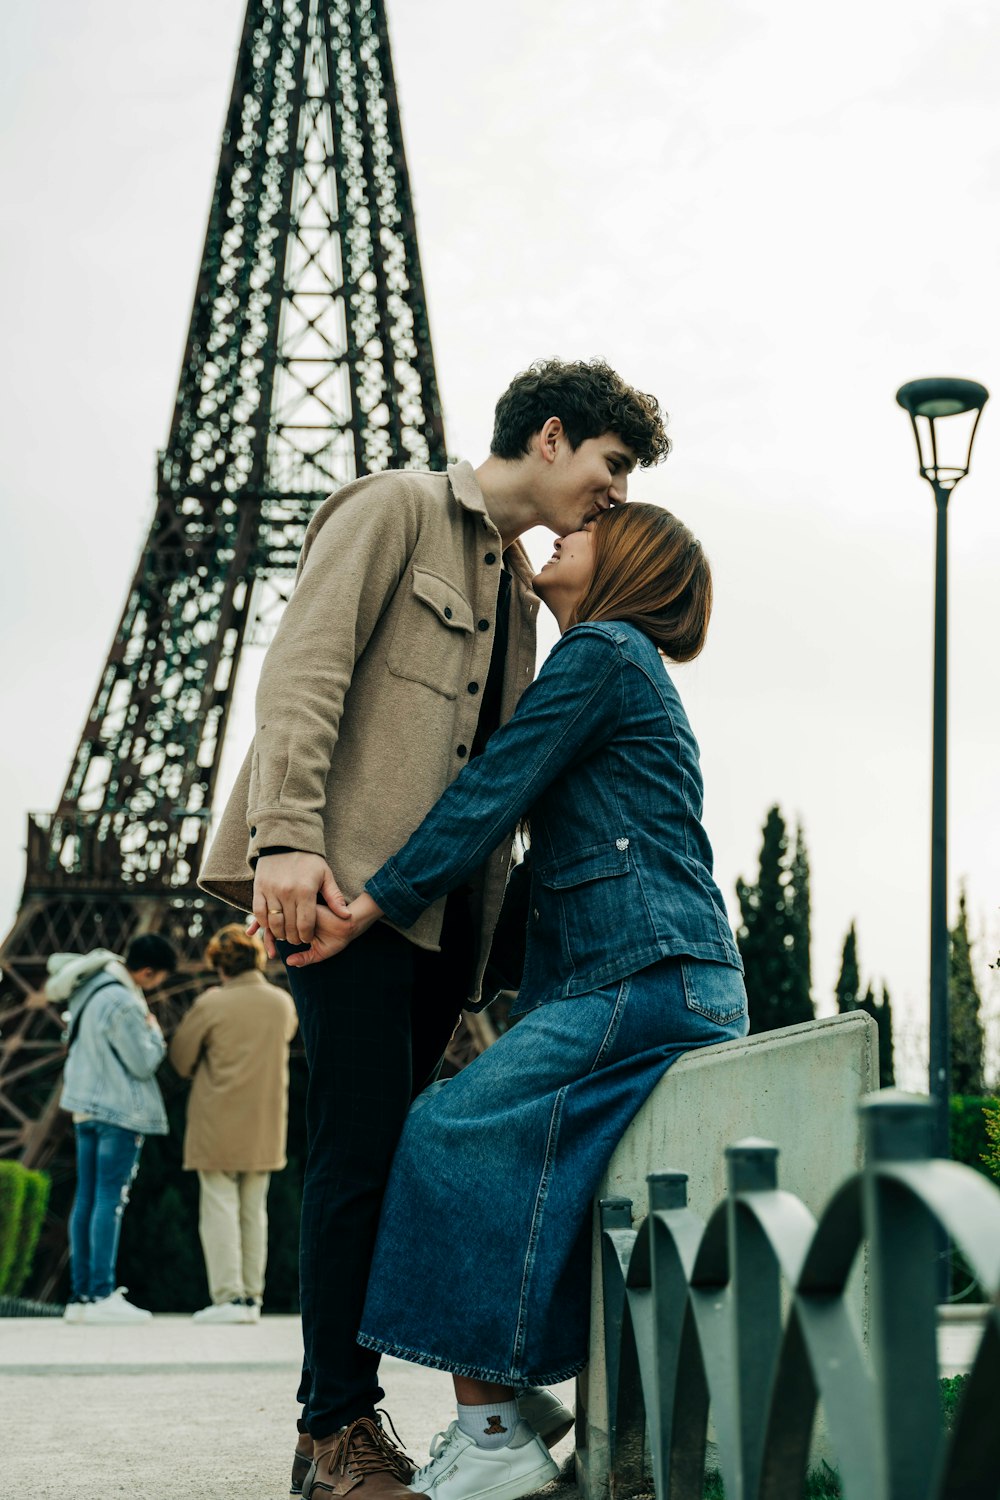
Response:
[[[228,920],[195,876],[235,672],[315,506],[444,464],[384,0],[249,0],[153,525],[0,950],[0,1155],[60,1134],[46,957],[159,930],[190,987]]]

